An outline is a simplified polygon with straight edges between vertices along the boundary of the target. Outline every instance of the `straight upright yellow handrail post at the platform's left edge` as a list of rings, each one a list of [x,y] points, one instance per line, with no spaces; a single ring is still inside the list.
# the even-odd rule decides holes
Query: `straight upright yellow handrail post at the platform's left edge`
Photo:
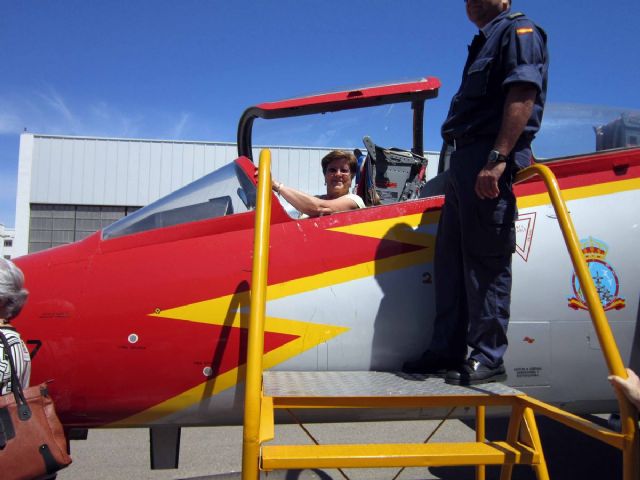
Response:
[[[262,391],[262,353],[264,351],[264,313],[266,309],[269,265],[269,222],[271,217],[271,151],[260,152],[258,194],[253,239],[251,274],[251,312],[247,341],[247,370],[242,431],[242,480],[258,480],[260,456],[260,408]]]

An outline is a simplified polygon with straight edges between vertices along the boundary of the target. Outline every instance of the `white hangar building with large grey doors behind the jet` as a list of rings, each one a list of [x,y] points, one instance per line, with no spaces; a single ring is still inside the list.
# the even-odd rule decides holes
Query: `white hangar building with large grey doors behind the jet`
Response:
[[[269,148],[278,181],[324,191],[320,159],[333,148]],[[12,256],[80,240],[237,156],[235,143],[23,133]]]

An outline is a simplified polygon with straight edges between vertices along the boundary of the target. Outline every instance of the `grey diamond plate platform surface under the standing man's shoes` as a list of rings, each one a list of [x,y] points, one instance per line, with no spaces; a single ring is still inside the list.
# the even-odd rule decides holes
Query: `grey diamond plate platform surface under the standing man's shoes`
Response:
[[[515,396],[523,392],[502,383],[468,387],[448,385],[441,378],[401,372],[263,373],[267,397],[451,397]]]

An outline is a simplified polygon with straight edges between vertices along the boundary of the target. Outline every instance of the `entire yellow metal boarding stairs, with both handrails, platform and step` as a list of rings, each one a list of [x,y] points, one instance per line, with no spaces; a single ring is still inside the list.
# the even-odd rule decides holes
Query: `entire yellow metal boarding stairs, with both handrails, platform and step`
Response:
[[[477,480],[484,480],[486,465],[500,465],[501,480],[511,478],[514,465],[529,465],[536,477],[544,480],[549,478],[549,473],[535,414],[545,415],[619,449],[623,455],[623,480],[640,478],[636,412],[628,400],[621,396],[618,400],[622,433],[616,433],[498,383],[460,387],[447,385],[441,379],[389,372],[263,372],[261,361],[271,209],[270,158],[268,150],[260,155],[247,354],[243,480],[257,480],[260,470],[468,465],[476,466]],[[609,371],[626,377],[622,359],[582,257],[557,181],[551,171],[542,165],[523,170],[517,180],[526,180],[534,175],[540,175],[549,190]],[[274,438],[274,418],[278,409],[453,406],[475,408],[475,442],[268,444]],[[485,439],[487,407],[510,409],[507,438],[504,441],[489,442]]]

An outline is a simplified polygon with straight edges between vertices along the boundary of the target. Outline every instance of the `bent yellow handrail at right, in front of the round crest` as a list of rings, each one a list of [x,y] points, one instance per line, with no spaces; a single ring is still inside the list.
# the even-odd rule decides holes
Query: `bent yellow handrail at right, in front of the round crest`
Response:
[[[544,165],[534,164],[520,171],[516,175],[516,182],[527,180],[535,175],[540,175],[544,181],[551,204],[558,217],[560,223],[560,230],[564,237],[565,244],[569,250],[573,268],[580,281],[582,287],[582,293],[589,307],[589,314],[591,315],[591,321],[598,336],[600,348],[604,355],[605,362],[611,375],[617,375],[622,378],[627,378],[627,371],[625,370],[620,351],[616,344],[611,327],[607,321],[607,317],[604,313],[604,308],[600,302],[600,296],[596,291],[596,287],[589,273],[587,263],[580,249],[580,242],[578,235],[576,234],[575,227],[567,211],[567,206],[560,193],[560,187],[558,186],[558,180],[555,175]],[[626,445],[623,448],[623,473],[625,480],[636,479],[635,475],[638,468],[637,457],[637,424],[636,424],[636,412],[629,402],[629,400],[616,390],[618,398],[618,404],[620,406],[620,419],[622,421],[622,433],[626,437]]]

